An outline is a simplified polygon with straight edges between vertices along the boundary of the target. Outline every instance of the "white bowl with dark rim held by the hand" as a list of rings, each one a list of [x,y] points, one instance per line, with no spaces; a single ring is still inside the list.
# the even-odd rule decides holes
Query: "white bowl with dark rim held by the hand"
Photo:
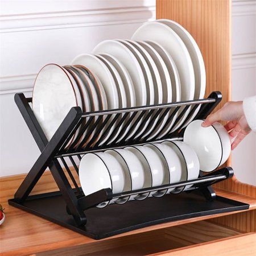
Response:
[[[187,126],[183,141],[191,146],[200,163],[200,170],[210,172],[225,163],[231,152],[231,142],[225,127],[220,123],[202,127],[203,120],[195,120]]]

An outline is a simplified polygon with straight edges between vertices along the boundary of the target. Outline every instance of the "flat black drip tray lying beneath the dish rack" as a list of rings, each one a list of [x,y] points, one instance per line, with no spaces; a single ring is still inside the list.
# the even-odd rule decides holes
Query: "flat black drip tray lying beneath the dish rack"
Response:
[[[164,222],[249,208],[248,204],[221,196],[207,201],[196,192],[168,194],[123,205],[112,204],[105,208],[85,210],[87,224],[77,227],[73,217],[67,214],[59,192],[30,196],[23,205],[11,199],[9,204],[96,240]]]

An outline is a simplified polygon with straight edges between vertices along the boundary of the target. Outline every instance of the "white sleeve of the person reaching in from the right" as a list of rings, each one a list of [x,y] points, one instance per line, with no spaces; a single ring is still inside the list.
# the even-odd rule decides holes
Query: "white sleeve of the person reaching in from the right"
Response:
[[[243,112],[251,130],[256,132],[256,95],[243,100]]]

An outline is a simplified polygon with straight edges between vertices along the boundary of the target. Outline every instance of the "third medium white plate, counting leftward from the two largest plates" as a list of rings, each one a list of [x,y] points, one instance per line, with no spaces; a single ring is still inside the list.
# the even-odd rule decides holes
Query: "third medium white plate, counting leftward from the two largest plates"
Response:
[[[138,44],[135,41],[132,40],[126,40],[126,42],[129,42],[132,44],[143,56],[144,60],[146,61],[148,68],[151,73],[152,82],[153,82],[153,88],[154,88],[154,104],[161,104],[163,103],[163,89],[162,89],[162,82],[160,79],[160,74],[158,72],[158,68],[156,67],[155,61],[152,59],[150,54],[144,49],[140,44]],[[148,113],[148,112],[147,112]],[[147,115],[147,113],[145,115]],[[147,129],[148,123],[150,123],[152,117],[154,115],[151,115],[150,118],[147,119],[147,122],[144,124],[143,129],[135,136],[135,138],[139,137],[142,133],[144,133],[144,130]],[[158,121],[159,117],[154,119],[154,124],[151,125],[150,129],[147,131],[147,133],[150,133],[152,129],[154,129],[155,123]]]

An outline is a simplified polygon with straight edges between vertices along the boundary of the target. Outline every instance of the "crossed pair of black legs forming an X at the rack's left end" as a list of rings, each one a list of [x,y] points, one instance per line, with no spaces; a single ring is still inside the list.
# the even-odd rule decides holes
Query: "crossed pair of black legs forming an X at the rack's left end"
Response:
[[[65,199],[65,202],[67,203],[67,208],[73,215],[77,225],[85,225],[85,214],[79,206],[77,197],[73,192],[59,161],[54,159],[55,154],[64,143],[67,135],[71,133],[73,127],[75,127],[76,123],[79,121],[79,113],[81,113],[81,109],[72,108],[67,117],[65,117],[64,121],[61,123],[59,129],[53,135],[51,141],[48,142],[42,128],[40,127],[34,113],[30,108],[30,105],[28,104],[27,99],[24,97],[24,94],[15,94],[15,102],[36,143],[38,144],[40,151],[42,152],[16,191],[14,196],[15,200],[19,203],[23,203],[24,200],[26,200],[27,196],[32,191],[35,184],[38,182],[48,166],[57,186],[60,189],[60,192]]]

